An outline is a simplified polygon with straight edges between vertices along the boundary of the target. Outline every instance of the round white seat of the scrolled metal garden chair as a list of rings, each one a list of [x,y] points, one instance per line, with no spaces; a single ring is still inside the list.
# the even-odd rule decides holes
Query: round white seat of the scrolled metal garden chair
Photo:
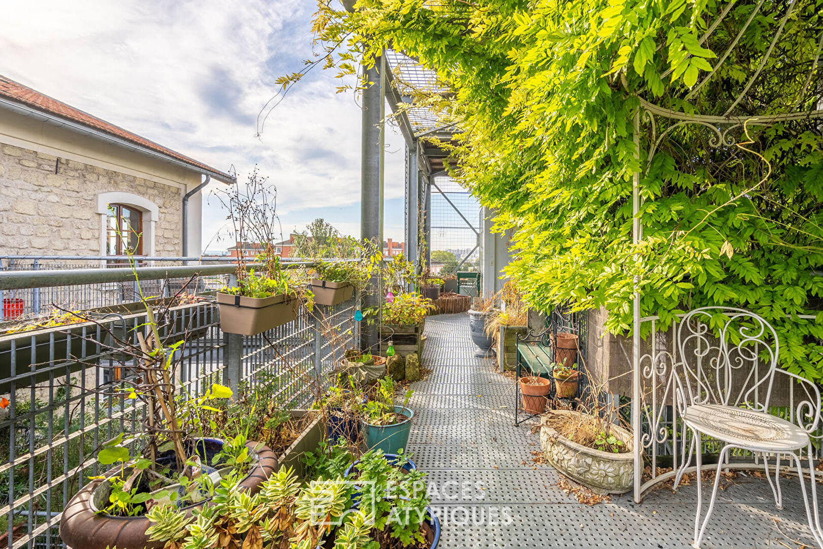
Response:
[[[755,451],[789,451],[809,444],[808,433],[800,427],[746,408],[695,404],[686,407],[683,421],[704,435]]]

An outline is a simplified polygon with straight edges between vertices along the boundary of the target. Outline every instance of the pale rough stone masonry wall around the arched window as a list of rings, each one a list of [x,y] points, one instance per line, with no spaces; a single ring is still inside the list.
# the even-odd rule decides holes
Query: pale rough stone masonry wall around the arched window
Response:
[[[100,255],[97,195],[113,191],[154,202],[155,254],[182,253],[182,188],[0,145],[0,254]]]

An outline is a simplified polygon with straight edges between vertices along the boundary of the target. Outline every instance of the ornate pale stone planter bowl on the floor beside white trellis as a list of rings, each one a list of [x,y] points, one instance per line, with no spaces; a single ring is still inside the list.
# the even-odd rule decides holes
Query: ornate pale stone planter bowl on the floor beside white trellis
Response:
[[[579,415],[579,412],[570,410],[551,413]],[[611,434],[622,440],[629,451],[614,454],[586,448],[560,435],[544,418],[540,426],[540,445],[546,461],[567,477],[597,494],[625,494],[635,482],[633,439],[628,430],[619,426],[612,426]]]

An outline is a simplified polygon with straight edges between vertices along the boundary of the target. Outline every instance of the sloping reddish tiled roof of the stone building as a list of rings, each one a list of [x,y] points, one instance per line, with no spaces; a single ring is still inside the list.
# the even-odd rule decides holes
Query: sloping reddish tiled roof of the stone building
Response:
[[[32,90],[30,87],[23,86],[21,83],[3,77],[2,75],[0,75],[0,97],[14,100],[32,109],[53,114],[89,128],[94,128],[100,132],[108,133],[111,136],[119,137],[124,141],[134,143],[140,147],[151,149],[151,151],[159,152],[161,155],[169,156],[174,160],[184,162],[195,169],[210,172],[212,175],[216,175],[221,179],[226,179],[227,181],[235,180],[235,177],[230,174],[216,170],[212,168],[212,166],[198,162],[188,156],[181,155],[177,151],[172,151],[169,148],[158,145],[156,142],[149,141],[145,137],[140,137],[136,133],[131,133],[119,126],[115,126],[113,123],[108,123],[96,116],[85,113],[80,109],[75,109],[71,105],[66,105],[63,101],[53,99],[49,97],[49,95],[43,95],[39,91]]]

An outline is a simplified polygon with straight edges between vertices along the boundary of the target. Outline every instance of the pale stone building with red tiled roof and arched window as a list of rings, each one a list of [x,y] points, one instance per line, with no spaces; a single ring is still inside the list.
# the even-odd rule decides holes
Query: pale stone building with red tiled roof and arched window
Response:
[[[198,255],[210,179],[235,182],[0,76],[0,255]]]

